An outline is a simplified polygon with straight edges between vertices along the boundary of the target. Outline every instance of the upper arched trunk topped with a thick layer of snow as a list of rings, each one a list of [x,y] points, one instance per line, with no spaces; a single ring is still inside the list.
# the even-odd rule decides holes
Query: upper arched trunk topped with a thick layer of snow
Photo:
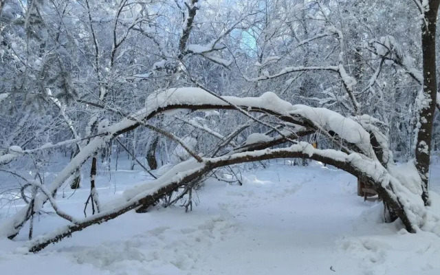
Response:
[[[248,111],[259,111],[276,115],[281,120],[311,129],[320,129],[337,135],[340,139],[359,148],[367,157],[375,158],[371,147],[369,133],[351,118],[330,111],[325,108],[312,108],[305,105],[292,105],[281,100],[272,92],[266,92],[258,98],[237,98],[234,96],[217,97],[200,88],[188,87],[168,89],[151,95],[146,101],[146,108],[137,111],[129,118],[103,129],[102,136],[94,137],[87,146],[76,155],[47,187],[50,193],[55,192],[65,180],[76,171],[99,148],[121,133],[135,129],[144,121],[153,118],[157,113],[171,109],[236,109],[245,108]],[[3,157],[8,159],[8,157]],[[35,199],[36,211],[43,207],[47,200],[45,194],[40,193]],[[28,219],[26,206],[10,219],[8,223],[0,225],[0,236],[14,236]]]

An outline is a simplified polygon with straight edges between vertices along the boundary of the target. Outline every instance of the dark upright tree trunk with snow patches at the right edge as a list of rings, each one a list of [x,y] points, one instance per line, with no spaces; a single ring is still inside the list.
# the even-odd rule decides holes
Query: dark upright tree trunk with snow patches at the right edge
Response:
[[[422,1],[420,0],[420,3]],[[416,167],[421,177],[422,199],[428,205],[429,164],[432,123],[437,101],[435,32],[440,0],[430,0],[428,7],[421,3],[421,48],[423,52],[423,87],[417,97],[417,140],[415,142]],[[423,10],[424,9],[424,10]],[[428,9],[428,10],[427,10]]]

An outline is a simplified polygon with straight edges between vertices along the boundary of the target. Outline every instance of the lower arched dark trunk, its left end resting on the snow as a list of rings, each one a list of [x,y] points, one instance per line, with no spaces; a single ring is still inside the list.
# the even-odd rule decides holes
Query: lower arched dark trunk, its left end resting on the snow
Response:
[[[256,162],[267,159],[276,159],[276,158],[287,158],[287,157],[304,157],[307,159],[314,159],[316,161],[324,162],[327,164],[331,164],[345,170],[356,177],[359,177],[363,181],[369,182],[373,184],[379,193],[379,195],[384,199],[386,203],[386,207],[390,210],[390,214],[393,217],[399,217],[404,223],[406,230],[408,232],[415,232],[414,221],[411,221],[408,217],[411,216],[410,213],[407,213],[408,206],[404,206],[401,201],[399,201],[398,197],[396,198],[395,183],[390,180],[390,177],[382,177],[380,174],[372,176],[369,173],[366,173],[370,168],[375,167],[375,162],[370,163],[362,163],[360,165],[353,164],[351,161],[351,155],[347,155],[345,153],[338,153],[338,159],[334,159],[333,157],[329,157],[329,155],[333,155],[336,151],[327,149],[320,150],[315,149],[311,144],[307,144],[306,142],[302,142],[300,144],[291,146],[289,148],[281,148],[281,149],[272,149],[272,150],[261,150],[261,151],[252,151],[248,153],[239,153],[236,155],[229,155],[223,157],[215,157],[210,159],[205,159],[204,162],[195,162],[195,159],[189,159],[184,163],[178,164],[172,170],[168,171],[166,175],[164,175],[167,180],[162,182],[162,179],[157,179],[158,182],[161,182],[160,186],[155,188],[155,191],[150,191],[151,183],[147,184],[146,191],[142,192],[142,188],[135,188],[132,195],[129,195],[128,192],[125,197],[128,200],[122,206],[115,208],[115,210],[108,210],[101,212],[100,214],[96,214],[94,217],[90,219],[85,219],[84,221],[77,221],[72,225],[67,226],[67,228],[63,228],[63,230],[56,230],[51,234],[47,234],[47,236],[41,236],[40,238],[35,239],[30,243],[30,252],[39,252],[43,248],[45,248],[50,243],[56,243],[61,241],[61,239],[66,236],[71,236],[73,232],[77,232],[83,230],[84,228],[89,227],[90,225],[94,225],[97,223],[102,223],[104,221],[109,221],[111,219],[115,219],[119,217],[121,214],[128,212],[129,210],[133,210],[142,206],[142,208],[147,208],[148,206],[152,206],[159,199],[162,199],[169,192],[173,192],[177,190],[179,187],[184,186],[193,181],[198,181],[203,178],[207,173],[212,171],[215,168],[219,168],[222,166],[228,166],[232,164],[239,164],[243,162]],[[188,164],[192,167],[190,172],[185,173]],[[386,173],[386,172],[385,172]],[[174,176],[173,176],[174,175]],[[142,195],[140,195],[142,194]],[[409,214],[409,215],[408,215]]]

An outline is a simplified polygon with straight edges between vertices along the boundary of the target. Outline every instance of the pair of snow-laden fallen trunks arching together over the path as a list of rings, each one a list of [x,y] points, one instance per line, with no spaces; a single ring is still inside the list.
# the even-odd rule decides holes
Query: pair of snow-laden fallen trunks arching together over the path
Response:
[[[244,146],[236,148],[236,151],[232,150],[221,157],[199,157],[198,160],[192,158],[178,164],[157,180],[146,183],[131,192],[126,192],[125,201],[115,208],[102,210],[87,219],[76,219],[75,223],[65,229],[56,230],[56,233],[50,236],[35,239],[30,251],[41,250],[45,245],[69,236],[72,232],[113,219],[139,206],[152,205],[168,192],[200,179],[215,168],[280,157],[314,159],[346,170],[371,183],[384,199],[386,209],[391,217],[401,219],[409,232],[415,232],[422,225],[424,206],[421,200],[421,181],[418,185],[413,182],[401,182],[401,179],[397,179],[393,175],[395,167],[391,153],[388,151],[387,140],[371,123],[375,122],[373,118],[368,118],[365,115],[358,118],[346,118],[324,108],[292,105],[273,93],[263,94],[259,98],[219,98],[200,88],[168,89],[151,97],[148,103],[149,106],[146,109],[138,111],[112,126],[102,128],[100,135],[94,137],[59,173],[58,177],[47,187],[47,192],[41,192],[36,196],[33,204],[34,212],[43,207],[47,200],[47,193],[56,191],[65,179],[73,175],[76,169],[104,146],[107,140],[145,124],[148,119],[164,111],[172,109],[236,109],[248,115],[251,111],[263,112],[281,120],[285,124],[285,129],[277,130],[277,135],[271,138],[261,136],[252,138],[245,142]],[[356,119],[359,122],[356,122]],[[320,133],[320,135],[331,138],[342,150],[320,150],[307,142],[296,140],[296,137],[311,133]],[[375,146],[372,145],[372,141],[375,141],[373,142]],[[287,148],[269,149],[270,146],[285,142],[293,145]],[[414,171],[417,175],[417,170]],[[3,223],[1,234],[15,236],[25,221],[32,216],[30,207],[28,205],[7,223]]]

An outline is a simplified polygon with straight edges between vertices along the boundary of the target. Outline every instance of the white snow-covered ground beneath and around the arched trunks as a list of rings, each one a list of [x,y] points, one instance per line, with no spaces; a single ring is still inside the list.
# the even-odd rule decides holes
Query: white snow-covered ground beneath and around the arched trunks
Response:
[[[358,197],[355,177],[316,162],[268,164],[245,173],[243,186],[208,180],[192,212],[179,206],[132,211],[38,254],[18,249],[27,239],[23,229],[16,241],[0,239],[0,274],[440,274],[440,237],[382,223],[382,203]],[[128,166],[120,163],[120,169]],[[434,162],[437,192],[439,168]],[[103,173],[100,200],[148,178],[141,170]],[[81,217],[89,192],[84,185],[74,195],[60,190],[58,206]],[[16,207],[2,208],[0,222]],[[34,235],[63,224],[46,214],[36,219]]]

